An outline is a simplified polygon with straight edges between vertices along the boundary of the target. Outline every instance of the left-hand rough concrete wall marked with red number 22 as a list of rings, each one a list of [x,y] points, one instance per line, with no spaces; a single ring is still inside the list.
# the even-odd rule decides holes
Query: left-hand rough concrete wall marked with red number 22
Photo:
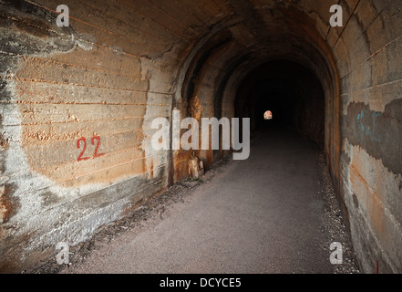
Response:
[[[151,120],[170,117],[175,59],[160,60],[175,32],[129,3],[64,4],[69,27],[55,1],[0,2],[0,270],[77,244],[168,185],[168,152],[149,141]]]

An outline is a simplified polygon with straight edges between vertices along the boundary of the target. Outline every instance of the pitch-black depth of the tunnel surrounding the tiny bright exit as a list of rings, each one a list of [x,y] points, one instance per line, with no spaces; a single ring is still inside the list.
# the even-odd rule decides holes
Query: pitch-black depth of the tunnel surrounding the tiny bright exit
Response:
[[[264,120],[270,110],[273,120]],[[287,127],[324,149],[325,94],[307,68],[290,61],[273,61],[256,68],[244,80],[235,99],[235,116],[251,119],[251,131]]]

